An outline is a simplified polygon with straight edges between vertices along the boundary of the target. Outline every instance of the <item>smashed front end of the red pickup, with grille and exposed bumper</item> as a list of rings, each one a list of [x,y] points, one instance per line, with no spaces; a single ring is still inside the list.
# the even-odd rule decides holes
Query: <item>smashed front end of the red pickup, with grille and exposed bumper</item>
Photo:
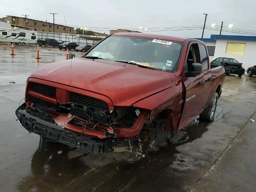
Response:
[[[150,111],[110,106],[101,98],[81,94],[68,86],[28,80],[25,103],[15,116],[28,133],[92,153],[112,150],[116,141],[139,141]]]

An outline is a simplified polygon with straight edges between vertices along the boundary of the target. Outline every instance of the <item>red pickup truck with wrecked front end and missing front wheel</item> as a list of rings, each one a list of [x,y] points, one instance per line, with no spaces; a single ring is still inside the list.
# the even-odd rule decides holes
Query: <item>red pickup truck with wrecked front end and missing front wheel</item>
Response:
[[[81,58],[34,71],[15,115],[41,146],[49,140],[99,153],[133,141],[142,148],[144,130],[170,138],[199,114],[213,121],[224,74],[210,68],[202,41],[112,34]]]

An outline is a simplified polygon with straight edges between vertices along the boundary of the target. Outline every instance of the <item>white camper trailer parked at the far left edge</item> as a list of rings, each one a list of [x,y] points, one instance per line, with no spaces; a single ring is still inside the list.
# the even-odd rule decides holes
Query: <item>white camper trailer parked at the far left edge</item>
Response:
[[[0,41],[10,42],[17,45],[36,44],[37,32],[20,30],[19,28],[0,28]]]

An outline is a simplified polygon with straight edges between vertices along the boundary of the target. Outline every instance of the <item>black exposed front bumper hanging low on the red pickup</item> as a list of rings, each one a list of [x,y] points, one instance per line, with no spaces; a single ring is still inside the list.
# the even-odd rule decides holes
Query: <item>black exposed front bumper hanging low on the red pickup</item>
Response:
[[[113,138],[98,139],[70,132],[55,124],[54,115],[28,111],[25,103],[15,111],[15,116],[26,132],[33,132],[49,140],[91,153],[102,153],[113,148]]]

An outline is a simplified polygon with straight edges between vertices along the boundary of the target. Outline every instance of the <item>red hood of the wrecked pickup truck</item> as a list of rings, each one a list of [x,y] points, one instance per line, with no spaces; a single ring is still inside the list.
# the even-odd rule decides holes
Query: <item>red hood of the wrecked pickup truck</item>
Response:
[[[176,80],[176,76],[169,72],[86,58],[48,64],[30,77],[102,94],[110,98],[114,106],[130,106],[174,86]]]

